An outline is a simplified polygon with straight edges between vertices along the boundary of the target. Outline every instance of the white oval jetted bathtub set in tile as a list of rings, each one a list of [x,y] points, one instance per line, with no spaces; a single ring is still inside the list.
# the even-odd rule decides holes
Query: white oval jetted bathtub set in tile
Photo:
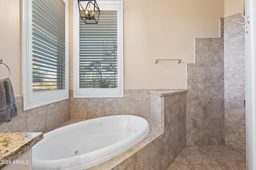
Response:
[[[114,115],[64,126],[32,147],[33,170],[83,170],[125,152],[150,132],[146,119]]]

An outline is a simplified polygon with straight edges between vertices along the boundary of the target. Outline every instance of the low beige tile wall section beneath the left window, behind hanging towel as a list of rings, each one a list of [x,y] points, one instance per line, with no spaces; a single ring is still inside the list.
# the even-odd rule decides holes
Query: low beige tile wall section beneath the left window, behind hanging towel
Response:
[[[22,96],[15,96],[18,116],[0,124],[0,133],[51,131],[70,117],[69,99],[23,111]]]

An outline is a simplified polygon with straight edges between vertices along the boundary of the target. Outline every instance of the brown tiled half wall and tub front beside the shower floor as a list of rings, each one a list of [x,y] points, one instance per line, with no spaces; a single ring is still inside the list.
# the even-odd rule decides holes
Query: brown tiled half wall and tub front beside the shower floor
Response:
[[[186,146],[186,92],[187,90],[182,90],[180,94],[164,92],[164,94],[169,93],[170,95],[164,97],[158,96],[157,92],[155,94],[150,93],[150,101],[152,101],[153,95],[156,97],[154,101],[160,100],[161,113],[164,114],[164,119],[162,119],[164,132],[128,159],[118,164],[113,170],[165,170],[170,166]],[[151,114],[154,113],[151,112]],[[182,117],[183,115],[184,117]],[[170,117],[173,119],[170,119]]]

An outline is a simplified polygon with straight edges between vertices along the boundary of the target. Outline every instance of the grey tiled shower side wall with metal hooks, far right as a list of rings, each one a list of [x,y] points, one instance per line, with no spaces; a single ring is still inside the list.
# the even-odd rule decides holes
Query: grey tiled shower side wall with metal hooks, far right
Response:
[[[224,18],[225,145],[246,150],[245,35],[241,14]]]

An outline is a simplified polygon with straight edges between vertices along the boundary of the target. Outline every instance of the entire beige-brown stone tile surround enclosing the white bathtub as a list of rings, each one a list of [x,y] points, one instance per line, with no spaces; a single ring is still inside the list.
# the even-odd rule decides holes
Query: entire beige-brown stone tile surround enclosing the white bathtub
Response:
[[[56,102],[47,106],[38,107],[28,111],[22,111],[22,96],[16,96],[19,115],[9,123],[0,125],[1,132],[48,132],[59,127],[63,122],[73,123],[85,119],[92,119],[107,115],[132,114],[144,117],[150,122],[150,135],[142,142],[123,154],[110,159],[107,162],[93,167],[96,170],[105,169],[166,169],[186,145],[184,117],[186,113],[186,92],[169,92],[172,96],[157,96],[164,104],[161,107],[165,111],[166,120],[162,117],[164,131],[151,121],[150,93],[149,90],[125,90],[124,98],[73,98],[70,90],[70,99]],[[176,90],[179,91],[179,90]],[[159,94],[159,92],[156,92]],[[152,95],[152,94],[151,94]],[[155,94],[154,94],[155,95]],[[156,95],[155,95],[156,96]],[[169,102],[177,102],[170,107]],[[174,109],[177,107],[178,109]],[[164,109],[165,108],[165,109]],[[168,110],[167,108],[173,108]],[[101,112],[103,111],[103,112]],[[173,111],[173,112],[170,112]],[[180,116],[178,112],[182,111]],[[95,113],[95,114],[94,114]],[[168,115],[167,113],[170,113]],[[70,118],[69,119],[69,114]],[[171,124],[170,116],[175,115],[175,125]],[[178,117],[177,117],[178,116]],[[182,122],[183,120],[183,122]],[[186,120],[186,118],[185,118]],[[171,121],[171,122],[170,122]],[[181,121],[180,123],[178,121]],[[64,124],[68,124],[64,123]],[[182,128],[183,127],[183,128]],[[166,131],[165,131],[166,130]]]

